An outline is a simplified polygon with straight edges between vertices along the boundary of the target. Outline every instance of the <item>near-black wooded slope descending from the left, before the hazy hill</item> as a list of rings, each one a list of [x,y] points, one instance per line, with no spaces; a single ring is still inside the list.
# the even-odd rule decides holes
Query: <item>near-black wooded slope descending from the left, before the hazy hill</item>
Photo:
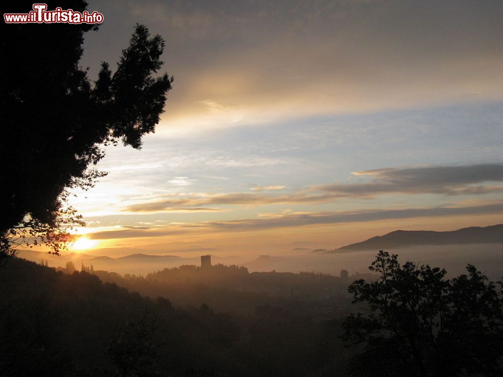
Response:
[[[177,309],[87,272],[0,269],[2,376],[304,376],[342,367],[337,321],[274,303],[253,315]]]

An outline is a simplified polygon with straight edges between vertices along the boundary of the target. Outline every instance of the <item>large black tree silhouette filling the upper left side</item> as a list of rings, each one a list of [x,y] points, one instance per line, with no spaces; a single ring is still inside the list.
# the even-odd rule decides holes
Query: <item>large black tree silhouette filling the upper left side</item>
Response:
[[[3,2],[4,13],[27,13],[33,2]],[[82,12],[83,0],[61,0]],[[0,257],[13,243],[44,242],[54,253],[71,240],[67,229],[81,225],[65,206],[69,189],[89,189],[105,173],[90,168],[102,145],[141,147],[163,111],[173,77],[153,77],[163,64],[164,42],[136,25],[115,73],[101,63],[92,82],[82,69],[84,33],[93,25],[1,25]],[[2,258],[0,258],[2,259]],[[2,262],[2,260],[0,260]]]

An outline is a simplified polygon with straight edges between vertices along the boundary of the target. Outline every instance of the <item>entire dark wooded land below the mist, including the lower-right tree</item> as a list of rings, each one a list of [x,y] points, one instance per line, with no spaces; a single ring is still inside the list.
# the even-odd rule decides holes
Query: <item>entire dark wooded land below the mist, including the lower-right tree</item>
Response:
[[[380,251],[356,281],[220,264],[74,269],[14,258],[0,270],[1,376],[503,373],[503,282],[472,265],[446,279]]]

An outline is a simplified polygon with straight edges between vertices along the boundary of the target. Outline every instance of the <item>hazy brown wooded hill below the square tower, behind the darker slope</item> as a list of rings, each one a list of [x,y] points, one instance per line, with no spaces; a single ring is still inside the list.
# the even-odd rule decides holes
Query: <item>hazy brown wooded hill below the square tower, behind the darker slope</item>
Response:
[[[142,295],[169,298],[175,306],[206,303],[219,312],[253,314],[257,307],[274,304],[296,315],[321,320],[349,314],[351,304],[347,281],[328,274],[249,273],[245,267],[222,264],[207,268],[183,265],[146,276],[94,273],[103,281]]]

